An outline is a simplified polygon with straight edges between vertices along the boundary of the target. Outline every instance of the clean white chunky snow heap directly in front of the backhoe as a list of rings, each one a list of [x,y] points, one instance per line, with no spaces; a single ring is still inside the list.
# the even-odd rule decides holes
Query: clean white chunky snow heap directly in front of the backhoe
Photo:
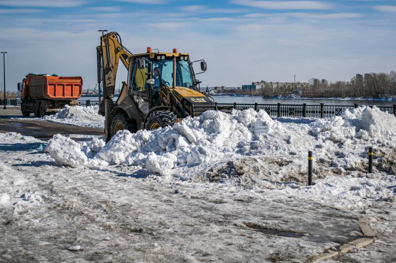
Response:
[[[55,135],[49,140],[47,151],[62,165],[140,165],[149,172],[166,175],[178,165],[235,157],[239,147],[245,145],[241,142],[251,141],[256,134],[282,129],[282,124],[264,111],[234,110],[232,114],[207,111],[199,117],[185,118],[173,127],[134,134],[119,131],[104,146],[95,139],[81,148],[71,139]]]

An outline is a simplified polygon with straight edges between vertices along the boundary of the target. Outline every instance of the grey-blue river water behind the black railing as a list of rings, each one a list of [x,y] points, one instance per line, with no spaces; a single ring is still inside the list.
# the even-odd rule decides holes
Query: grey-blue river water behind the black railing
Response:
[[[248,96],[212,96],[213,99],[218,103],[246,103],[246,104],[303,104],[307,105],[319,105],[324,103],[325,105],[376,105],[376,106],[392,106],[396,104],[396,101],[384,101],[384,100],[353,100],[353,99],[268,99],[263,97],[248,97]],[[114,98],[116,100],[117,97]],[[98,97],[81,97],[79,100],[91,100],[98,101]]]

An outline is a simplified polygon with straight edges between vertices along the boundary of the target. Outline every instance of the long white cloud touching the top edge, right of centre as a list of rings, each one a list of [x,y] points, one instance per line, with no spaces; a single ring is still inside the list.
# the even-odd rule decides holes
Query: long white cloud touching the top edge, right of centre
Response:
[[[331,9],[333,5],[321,1],[255,1],[255,0],[233,0],[235,4],[247,5],[263,9],[279,10],[324,10]]]

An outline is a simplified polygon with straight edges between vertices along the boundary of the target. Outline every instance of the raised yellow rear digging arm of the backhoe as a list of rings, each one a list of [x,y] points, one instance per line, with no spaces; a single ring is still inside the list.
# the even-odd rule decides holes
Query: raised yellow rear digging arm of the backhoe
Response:
[[[121,60],[128,70],[128,58],[132,53],[122,45],[121,37],[117,32],[110,32],[100,37],[97,47],[98,84],[102,82],[103,99],[112,99],[114,96],[115,80],[118,63]],[[103,79],[102,79],[103,77]],[[104,105],[100,105],[99,113],[104,115]]]

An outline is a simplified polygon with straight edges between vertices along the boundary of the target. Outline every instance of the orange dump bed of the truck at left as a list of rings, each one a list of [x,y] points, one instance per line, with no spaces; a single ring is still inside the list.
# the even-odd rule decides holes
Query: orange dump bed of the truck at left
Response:
[[[83,93],[81,76],[27,75],[26,85],[33,99],[78,99]]]

